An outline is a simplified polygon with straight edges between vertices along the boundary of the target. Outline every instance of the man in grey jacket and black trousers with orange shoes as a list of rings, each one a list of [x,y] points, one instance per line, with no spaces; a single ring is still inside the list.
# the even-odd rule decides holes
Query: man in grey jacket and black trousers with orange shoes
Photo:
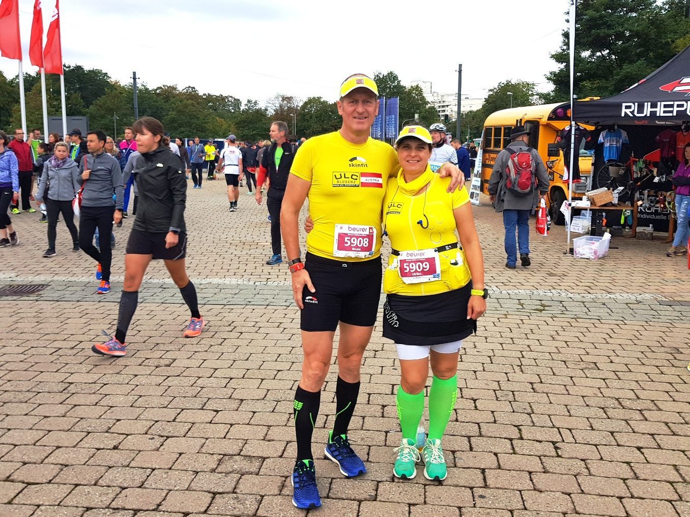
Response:
[[[101,283],[98,294],[110,292],[110,235],[112,223],[122,221],[124,186],[117,159],[103,151],[106,134],[90,131],[86,136],[89,154],[79,163],[83,184],[81,216],[79,216],[79,246],[98,265],[96,279]],[[115,200],[113,200],[113,194]],[[100,250],[93,245],[93,234],[98,227]]]

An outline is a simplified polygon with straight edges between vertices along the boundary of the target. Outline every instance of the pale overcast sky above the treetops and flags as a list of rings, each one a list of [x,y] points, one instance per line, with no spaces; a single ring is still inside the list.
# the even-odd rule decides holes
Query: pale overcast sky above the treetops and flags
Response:
[[[568,0],[130,1],[62,0],[63,61],[100,68],[122,83],[132,71],[150,87],[192,85],[199,92],[264,103],[275,94],[333,101],[354,72],[394,70],[406,85],[431,81],[484,97],[500,81],[549,90],[549,54],[566,28]],[[43,1],[48,30],[54,0]],[[518,6],[520,6],[518,8]],[[33,0],[19,0],[24,70]],[[0,58],[6,76],[17,61]]]

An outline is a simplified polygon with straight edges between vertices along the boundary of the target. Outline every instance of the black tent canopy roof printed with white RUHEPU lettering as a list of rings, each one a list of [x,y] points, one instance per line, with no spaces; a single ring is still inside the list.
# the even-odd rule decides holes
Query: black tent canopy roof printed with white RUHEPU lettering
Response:
[[[580,123],[680,125],[690,120],[690,46],[624,92],[598,101],[575,102]]]

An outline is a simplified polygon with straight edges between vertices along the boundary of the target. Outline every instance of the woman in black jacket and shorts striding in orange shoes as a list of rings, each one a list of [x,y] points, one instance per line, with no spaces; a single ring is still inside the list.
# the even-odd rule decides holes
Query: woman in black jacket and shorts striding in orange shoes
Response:
[[[125,280],[120,297],[117,330],[106,343],[91,347],[96,354],[121,357],[126,354],[125,338],[130,321],[137,310],[139,287],[144,280],[148,264],[162,259],[170,278],[191,312],[184,337],[199,336],[205,321],[199,314],[197,291],[187,276],[185,254],[187,229],[184,224],[187,181],[178,156],[169,147],[163,125],[150,116],[144,116],[132,125],[137,141],[132,174],[139,191],[137,216],[127,242],[125,254]]]

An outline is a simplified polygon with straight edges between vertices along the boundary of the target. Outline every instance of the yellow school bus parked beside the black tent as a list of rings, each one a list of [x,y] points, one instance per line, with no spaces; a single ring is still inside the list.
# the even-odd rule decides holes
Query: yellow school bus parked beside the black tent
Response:
[[[568,199],[568,182],[563,181],[563,153],[556,145],[558,135],[570,125],[570,103],[544,104],[510,108],[489,115],[484,122],[484,141],[482,141],[482,191],[489,194],[489,177],[498,153],[511,141],[511,130],[515,125],[524,125],[531,132],[530,147],[535,148],[546,163],[549,172],[549,210],[551,221],[564,224],[560,207]],[[591,126],[582,125],[592,130]],[[584,141],[582,142],[584,147]],[[582,183],[573,183],[573,199],[580,199],[589,190],[592,158],[580,148],[580,175]]]

